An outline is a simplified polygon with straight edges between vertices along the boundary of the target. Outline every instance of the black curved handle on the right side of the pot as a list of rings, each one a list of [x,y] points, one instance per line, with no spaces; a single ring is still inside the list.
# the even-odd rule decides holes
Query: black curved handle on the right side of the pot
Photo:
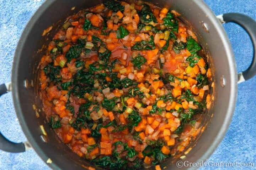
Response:
[[[238,74],[238,83],[249,80],[256,75],[256,21],[240,13],[225,13],[217,16],[217,18],[222,23],[234,22],[240,25],[250,35],[253,44],[254,57],[250,67]]]

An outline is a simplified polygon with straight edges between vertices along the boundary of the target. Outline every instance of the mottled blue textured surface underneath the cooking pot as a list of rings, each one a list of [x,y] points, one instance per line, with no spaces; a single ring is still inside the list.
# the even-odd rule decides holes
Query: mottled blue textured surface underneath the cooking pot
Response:
[[[0,1],[0,84],[11,80],[11,68],[17,42],[26,23],[44,0]],[[205,0],[216,15],[227,12],[244,13],[256,20],[255,0]],[[238,72],[252,61],[252,43],[236,24],[224,25],[231,41]],[[256,28],[255,28],[256,29]],[[26,62],[26,61],[24,61]],[[231,125],[222,143],[208,159],[213,162],[254,162],[256,169],[256,78],[238,85],[238,99]],[[11,93],[0,97],[0,130],[15,142],[26,141],[18,123]],[[0,169],[50,169],[33,151],[7,153],[0,151]],[[201,169],[223,169],[206,167]],[[226,169],[226,168],[225,168]],[[238,169],[238,168],[230,168]],[[240,167],[240,169],[245,169]],[[253,169],[253,168],[248,168]]]

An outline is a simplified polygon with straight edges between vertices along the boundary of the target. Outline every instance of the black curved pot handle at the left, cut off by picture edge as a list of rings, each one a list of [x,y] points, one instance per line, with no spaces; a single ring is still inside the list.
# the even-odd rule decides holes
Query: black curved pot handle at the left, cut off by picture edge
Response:
[[[0,96],[6,94],[11,91],[11,83],[5,83],[0,85]],[[30,144],[28,142],[24,143],[15,143],[9,141],[4,135],[0,132],[0,150],[12,153],[24,152],[28,148],[30,148]]]

